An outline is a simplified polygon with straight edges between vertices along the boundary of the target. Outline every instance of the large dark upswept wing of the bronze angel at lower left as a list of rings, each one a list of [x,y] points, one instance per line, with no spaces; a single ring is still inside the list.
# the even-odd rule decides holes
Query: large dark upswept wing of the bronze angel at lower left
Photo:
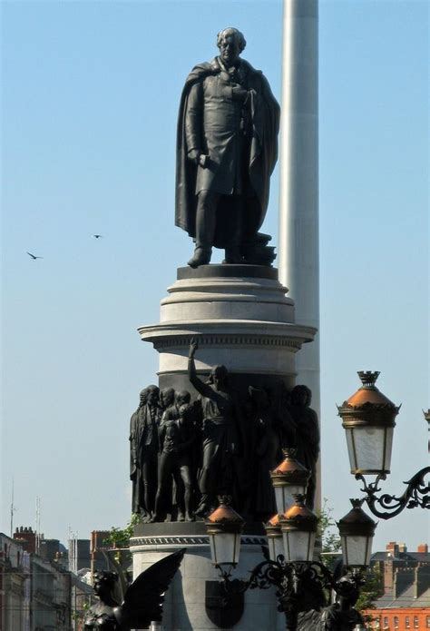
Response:
[[[121,629],[148,628],[151,621],[161,621],[164,592],[181,565],[186,548],[161,558],[140,574],[124,595],[122,606],[114,614]]]

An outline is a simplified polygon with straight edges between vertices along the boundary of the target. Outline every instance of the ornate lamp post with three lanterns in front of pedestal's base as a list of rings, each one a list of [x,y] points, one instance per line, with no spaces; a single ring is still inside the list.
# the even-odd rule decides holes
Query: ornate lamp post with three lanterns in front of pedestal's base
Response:
[[[293,506],[266,524],[269,556],[250,570],[248,580],[231,579],[232,569],[238,563],[238,537],[244,522],[229,506],[229,500],[220,498],[220,507],[206,521],[212,563],[220,569],[225,595],[223,606],[228,606],[234,596],[248,589],[276,587],[278,609],[285,615],[287,631],[297,630],[300,612],[327,606],[327,590],[334,590],[344,599],[348,612],[351,611],[349,603],[354,605],[357,600],[363,582],[361,570],[368,564],[376,527],[360,508],[359,500],[355,500],[354,508],[339,521],[342,542],[346,546],[344,556],[350,563],[346,576],[337,577],[314,560],[318,518],[305,506],[304,496],[297,495]]]

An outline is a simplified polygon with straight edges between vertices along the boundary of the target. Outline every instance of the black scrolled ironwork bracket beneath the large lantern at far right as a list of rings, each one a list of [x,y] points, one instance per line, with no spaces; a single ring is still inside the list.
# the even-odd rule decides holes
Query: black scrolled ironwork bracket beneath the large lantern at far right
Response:
[[[379,482],[386,479],[386,475],[377,476],[375,482],[367,484],[366,478],[361,474],[356,475],[356,479],[361,480],[364,488],[361,490],[366,493],[365,501],[369,510],[381,519],[391,519],[396,517],[404,508],[430,508],[430,480],[425,484],[425,477],[430,476],[430,467],[422,468],[420,471],[410,478],[406,484],[406,490],[403,495],[397,498],[394,495],[383,493],[379,497],[376,495],[381,489]],[[380,510],[379,508],[384,510]]]

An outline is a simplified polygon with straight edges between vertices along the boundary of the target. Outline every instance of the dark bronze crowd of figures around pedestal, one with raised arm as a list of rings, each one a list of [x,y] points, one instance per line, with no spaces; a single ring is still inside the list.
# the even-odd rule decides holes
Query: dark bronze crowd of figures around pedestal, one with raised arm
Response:
[[[276,512],[270,471],[282,449],[298,449],[311,473],[307,503],[313,507],[319,453],[317,414],[310,390],[296,386],[269,392],[249,386],[239,400],[225,366],[207,380],[197,374],[191,340],[188,390],[143,389],[130,422],[132,512],[145,522],[204,519],[228,494],[249,520]]]

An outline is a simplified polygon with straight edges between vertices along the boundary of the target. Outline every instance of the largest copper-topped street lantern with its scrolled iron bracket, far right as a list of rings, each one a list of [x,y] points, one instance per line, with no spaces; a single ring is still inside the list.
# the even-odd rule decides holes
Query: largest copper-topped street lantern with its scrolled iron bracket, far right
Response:
[[[430,508],[430,484],[425,484],[430,467],[422,468],[405,483],[402,496],[376,495],[381,490],[379,482],[390,472],[395,418],[400,409],[376,388],[378,375],[379,372],[358,372],[362,387],[337,409],[347,435],[351,473],[363,482],[362,490],[371,512],[378,518],[389,519],[404,508]],[[366,475],[376,476],[376,480],[367,484]]]

